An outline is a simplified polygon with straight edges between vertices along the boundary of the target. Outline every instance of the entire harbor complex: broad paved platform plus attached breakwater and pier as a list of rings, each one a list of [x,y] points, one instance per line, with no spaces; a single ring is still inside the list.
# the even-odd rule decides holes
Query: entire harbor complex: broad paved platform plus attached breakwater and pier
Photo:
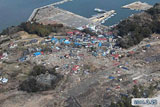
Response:
[[[62,23],[65,26],[80,28],[86,25],[100,25],[104,23],[108,18],[114,16],[115,10],[105,11],[98,8],[95,8],[94,11],[102,12],[101,14],[97,14],[91,18],[86,18],[72,12],[66,11],[64,9],[60,9],[55,7],[55,5],[59,3],[64,3],[71,0],[63,0],[61,2],[56,2],[51,5],[43,6],[40,8],[34,9],[28,21],[42,23],[44,25],[47,24],[55,24]]]

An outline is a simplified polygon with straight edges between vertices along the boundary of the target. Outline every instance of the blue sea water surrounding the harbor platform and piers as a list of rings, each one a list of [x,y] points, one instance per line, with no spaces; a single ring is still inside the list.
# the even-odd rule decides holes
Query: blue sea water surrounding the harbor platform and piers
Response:
[[[34,8],[48,5],[60,0],[0,0],[0,31],[27,21]],[[155,4],[160,0],[140,0],[148,4]],[[139,11],[122,9],[121,6],[135,2],[135,0],[73,0],[57,7],[71,11],[84,17],[95,15],[94,8],[116,10],[116,15],[108,19],[104,25],[113,25]]]

